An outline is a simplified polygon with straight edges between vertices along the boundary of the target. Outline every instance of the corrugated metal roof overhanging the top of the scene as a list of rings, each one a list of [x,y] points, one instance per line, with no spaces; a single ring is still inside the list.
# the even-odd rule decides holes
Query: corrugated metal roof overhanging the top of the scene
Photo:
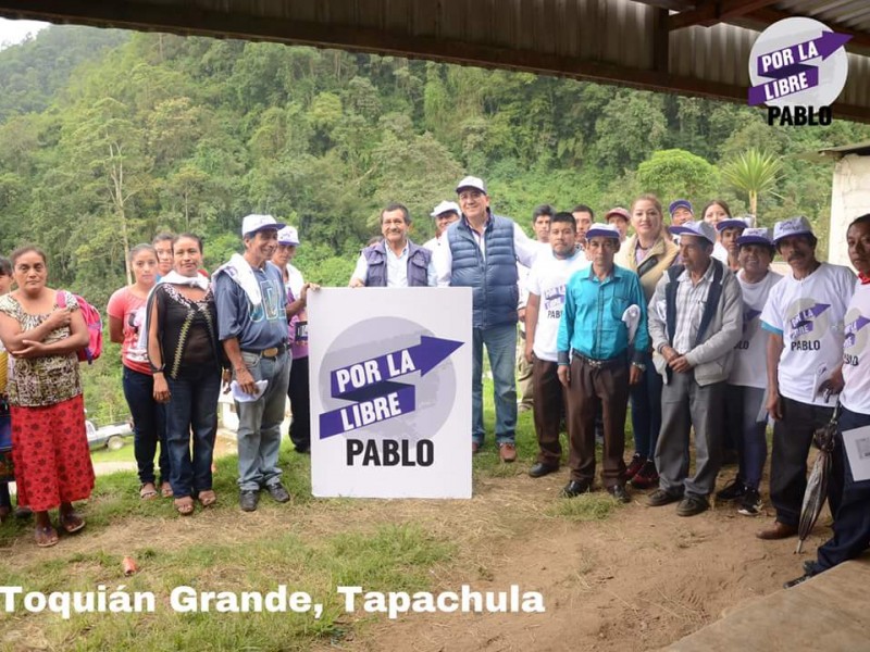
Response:
[[[0,15],[345,48],[743,102],[758,33],[807,15],[852,30],[835,115],[870,122],[868,0],[0,0]]]

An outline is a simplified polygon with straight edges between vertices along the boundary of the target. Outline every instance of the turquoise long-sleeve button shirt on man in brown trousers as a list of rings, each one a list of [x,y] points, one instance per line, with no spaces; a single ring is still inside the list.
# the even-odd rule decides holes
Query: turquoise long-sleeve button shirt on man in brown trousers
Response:
[[[566,286],[564,309],[559,322],[559,364],[568,364],[571,349],[593,360],[616,358],[629,348],[629,327],[622,315],[630,305],[641,311],[634,336],[634,361],[649,348],[646,300],[637,274],[613,265],[599,280],[592,266],[576,272]]]

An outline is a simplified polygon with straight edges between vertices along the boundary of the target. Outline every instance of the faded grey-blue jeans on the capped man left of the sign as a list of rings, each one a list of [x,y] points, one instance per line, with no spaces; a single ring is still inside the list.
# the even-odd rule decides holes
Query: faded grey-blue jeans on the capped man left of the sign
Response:
[[[238,487],[241,491],[259,491],[263,487],[281,482],[281,423],[284,421],[293,359],[289,352],[277,358],[260,358],[244,351],[241,358],[254,381],[269,380],[259,399],[236,402]]]

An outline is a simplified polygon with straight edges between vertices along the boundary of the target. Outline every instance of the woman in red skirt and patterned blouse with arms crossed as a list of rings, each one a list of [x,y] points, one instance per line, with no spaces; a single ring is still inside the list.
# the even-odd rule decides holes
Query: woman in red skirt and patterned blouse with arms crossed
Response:
[[[85,527],[73,502],[94,489],[76,351],[88,343],[78,302],[46,286],[46,254],[35,247],[10,256],[17,289],[0,297],[0,339],[13,358],[9,379],[12,456],[18,504],[36,516],[36,544],[54,546],[49,510],[67,534]],[[59,308],[64,305],[64,308]]]

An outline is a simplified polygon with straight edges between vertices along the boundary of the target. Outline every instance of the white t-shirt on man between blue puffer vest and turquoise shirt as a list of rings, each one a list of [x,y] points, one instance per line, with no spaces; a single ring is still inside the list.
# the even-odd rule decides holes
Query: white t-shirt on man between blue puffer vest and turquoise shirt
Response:
[[[564,286],[575,272],[586,269],[589,264],[585,251],[575,251],[571,258],[561,260],[550,249],[549,254],[542,253],[532,265],[526,287],[531,293],[540,298],[532,348],[538,360],[558,360],[556,340],[564,306]]]

